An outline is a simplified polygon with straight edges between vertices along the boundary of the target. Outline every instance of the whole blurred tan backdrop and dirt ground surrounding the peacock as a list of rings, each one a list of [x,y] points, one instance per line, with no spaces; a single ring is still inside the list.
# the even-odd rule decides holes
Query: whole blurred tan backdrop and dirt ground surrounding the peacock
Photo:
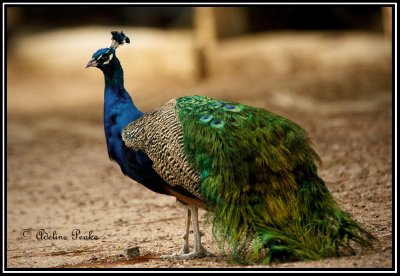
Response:
[[[200,94],[294,120],[309,132],[335,198],[390,248],[391,7],[13,5],[5,16],[9,266],[119,254],[142,234],[141,252],[179,248],[183,217],[154,233],[146,220],[180,219],[175,201],[133,185],[107,156],[104,79],[85,65],[110,46],[113,30],[131,39],[117,55],[139,109]],[[107,243],[18,240],[21,229],[39,227],[91,229]],[[385,250],[361,266],[390,265]]]

